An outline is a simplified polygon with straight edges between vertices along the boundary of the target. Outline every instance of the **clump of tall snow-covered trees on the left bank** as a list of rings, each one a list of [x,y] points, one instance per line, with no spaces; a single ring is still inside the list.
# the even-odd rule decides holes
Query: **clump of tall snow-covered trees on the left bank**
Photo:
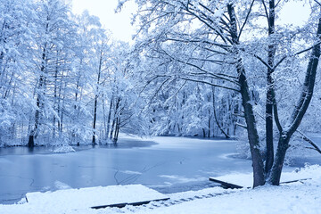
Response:
[[[136,99],[128,44],[61,0],[1,1],[0,27],[1,145],[117,142]]]

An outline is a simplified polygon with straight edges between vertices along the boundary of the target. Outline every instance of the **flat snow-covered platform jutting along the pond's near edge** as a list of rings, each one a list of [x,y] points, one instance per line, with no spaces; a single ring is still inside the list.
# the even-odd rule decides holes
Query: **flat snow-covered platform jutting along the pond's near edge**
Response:
[[[46,193],[27,193],[26,199],[30,205],[44,205],[48,208],[59,206],[69,209],[100,209],[141,205],[168,200],[169,197],[144,185],[110,185]]]

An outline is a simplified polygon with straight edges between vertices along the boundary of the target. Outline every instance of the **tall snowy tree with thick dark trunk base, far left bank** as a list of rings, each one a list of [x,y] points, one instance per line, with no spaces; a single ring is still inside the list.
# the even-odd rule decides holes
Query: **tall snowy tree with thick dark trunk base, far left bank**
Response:
[[[31,117],[29,146],[39,135],[49,134],[58,121],[62,132],[65,78],[70,70],[70,47],[73,45],[74,27],[69,19],[70,7],[60,0],[45,0],[35,3],[36,17],[32,20],[33,43],[29,54],[33,62],[35,110]],[[59,87],[59,88],[58,88]],[[53,118],[53,122],[49,122]]]

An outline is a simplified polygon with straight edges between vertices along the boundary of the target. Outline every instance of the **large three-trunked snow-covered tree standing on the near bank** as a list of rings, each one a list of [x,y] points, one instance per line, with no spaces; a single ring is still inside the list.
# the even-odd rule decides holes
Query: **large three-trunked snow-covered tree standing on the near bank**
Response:
[[[247,129],[251,150],[254,186],[264,185],[266,181],[278,185],[289,141],[307,111],[314,89],[320,52],[318,26],[321,22],[318,22],[318,10],[313,8],[312,17],[315,19],[311,19],[309,26],[298,30],[283,26],[277,31],[274,23],[276,12],[281,6],[286,5],[275,4],[273,0],[207,2],[136,0],[136,4],[139,6],[136,21],[140,26],[136,50],[154,59],[148,70],[152,74],[148,80],[149,84],[152,79],[153,82],[158,82],[158,87],[161,88],[186,81],[240,93],[242,116],[246,122],[244,127]],[[262,28],[259,22],[261,16],[268,18],[268,28],[264,26]],[[291,62],[300,57],[301,53],[308,54],[305,58],[308,69],[306,72],[301,72],[304,78],[300,87],[301,95],[292,95],[299,100],[296,107],[292,111],[289,110],[289,105],[284,105],[286,111],[292,111],[292,116],[290,119],[282,117],[287,121],[287,125],[282,126],[281,116],[277,113],[281,105],[276,102],[278,94],[274,87],[277,85],[274,75],[276,70],[296,70],[297,63]],[[251,63],[252,59],[254,63]],[[304,60],[295,62],[303,64]],[[267,121],[266,169],[256,112],[258,109],[256,88],[262,86],[257,69],[262,67],[268,70],[262,73],[267,79],[266,97],[268,97],[266,116],[263,116]],[[281,92],[282,95],[283,93],[284,91]],[[276,160],[272,159],[274,152],[270,146],[271,141],[273,143],[272,112],[279,135]]]

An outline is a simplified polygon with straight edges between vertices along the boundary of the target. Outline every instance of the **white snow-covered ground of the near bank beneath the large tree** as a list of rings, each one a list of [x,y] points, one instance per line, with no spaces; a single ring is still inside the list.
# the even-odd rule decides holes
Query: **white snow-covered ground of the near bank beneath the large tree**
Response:
[[[248,174],[249,175],[249,174]],[[240,183],[246,183],[248,175],[235,174],[234,177]],[[220,177],[221,179],[228,179],[231,175]],[[284,173],[284,177],[291,179],[311,178],[302,182],[286,184],[281,186],[262,186],[256,189],[243,188],[240,190],[224,190],[220,187],[206,188],[200,191],[189,191],[184,193],[167,194],[169,202],[152,202],[151,204],[133,207],[126,206],[125,208],[105,208],[101,210],[93,210],[86,208],[86,206],[75,207],[75,204],[68,202],[68,200],[81,202],[81,195],[87,191],[92,192],[93,188],[78,190],[82,194],[77,194],[77,190],[73,190],[72,199],[68,198],[68,191],[58,191],[51,193],[53,201],[60,201],[63,199],[66,202],[47,202],[45,198],[41,198],[42,194],[34,195],[34,202],[21,202],[21,204],[14,205],[0,205],[0,213],[6,214],[37,214],[37,213],[78,213],[78,214],[102,214],[102,213],[144,213],[144,214],[164,214],[164,213],[320,213],[321,204],[321,167],[318,165],[307,166],[304,169],[296,169],[292,172]],[[245,179],[245,180],[244,180]],[[134,186],[134,198],[137,200],[142,197],[144,200],[148,197],[161,197],[157,193],[151,194],[150,190],[143,186]],[[126,186],[111,186],[112,191],[100,191],[96,189],[95,197],[102,196],[106,202],[121,202],[132,200],[133,193],[128,195]],[[48,193],[50,194],[50,193]],[[54,200],[54,196],[60,197]],[[203,197],[210,195],[210,197]],[[39,197],[39,198],[37,198]],[[183,199],[183,200],[182,200]],[[83,199],[82,199],[83,200]],[[142,200],[142,199],[141,199]],[[45,202],[44,202],[45,201]],[[102,201],[102,200],[97,200]],[[172,203],[170,203],[172,202]],[[99,203],[99,202],[97,202]],[[84,202],[86,205],[86,202]],[[77,204],[76,204],[77,205]],[[101,205],[101,204],[97,204]]]

